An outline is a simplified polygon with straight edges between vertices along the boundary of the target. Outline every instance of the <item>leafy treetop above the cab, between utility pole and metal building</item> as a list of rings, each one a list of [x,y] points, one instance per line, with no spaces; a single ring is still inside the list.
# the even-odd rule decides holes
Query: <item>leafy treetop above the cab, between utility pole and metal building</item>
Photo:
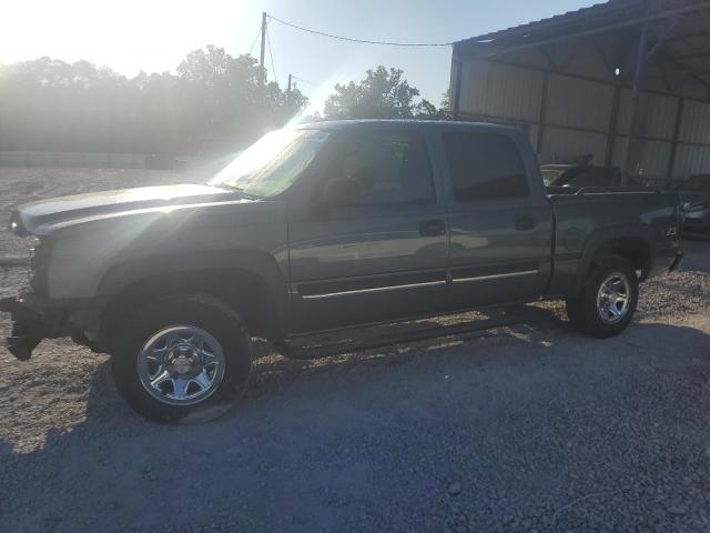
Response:
[[[382,64],[367,70],[365,79],[336,84],[325,101],[325,118],[336,119],[442,119],[445,113],[426,99],[416,101],[419,90],[409,86],[400,69]]]

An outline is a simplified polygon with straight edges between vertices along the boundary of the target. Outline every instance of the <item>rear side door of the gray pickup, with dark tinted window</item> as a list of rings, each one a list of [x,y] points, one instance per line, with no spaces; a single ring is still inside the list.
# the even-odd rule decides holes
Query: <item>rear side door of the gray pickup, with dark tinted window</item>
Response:
[[[450,177],[453,306],[539,296],[550,273],[552,215],[541,180],[528,178],[539,171],[521,157],[526,141],[504,129],[466,128],[443,132],[440,142]]]

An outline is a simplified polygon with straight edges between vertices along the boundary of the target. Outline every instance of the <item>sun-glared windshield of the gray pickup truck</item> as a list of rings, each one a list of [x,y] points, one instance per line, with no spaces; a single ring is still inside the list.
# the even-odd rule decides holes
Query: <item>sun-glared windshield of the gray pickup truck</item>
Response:
[[[265,134],[220,171],[211,185],[247,197],[273,197],[285,191],[313,161],[328,133],[284,128]]]

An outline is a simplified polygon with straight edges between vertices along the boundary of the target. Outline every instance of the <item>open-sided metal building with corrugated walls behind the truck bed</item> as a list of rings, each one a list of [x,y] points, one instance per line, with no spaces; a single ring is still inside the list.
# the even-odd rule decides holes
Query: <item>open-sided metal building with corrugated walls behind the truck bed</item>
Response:
[[[456,42],[450,88],[457,119],[518,124],[541,163],[710,172],[710,0],[610,0]]]

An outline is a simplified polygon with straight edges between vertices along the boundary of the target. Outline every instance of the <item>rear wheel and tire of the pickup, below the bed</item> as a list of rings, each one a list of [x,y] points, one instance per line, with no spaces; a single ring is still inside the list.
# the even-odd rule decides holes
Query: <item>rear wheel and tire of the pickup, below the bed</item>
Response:
[[[639,280],[633,265],[619,255],[602,255],[580,294],[566,301],[577,330],[597,338],[618,335],[633,319]]]

